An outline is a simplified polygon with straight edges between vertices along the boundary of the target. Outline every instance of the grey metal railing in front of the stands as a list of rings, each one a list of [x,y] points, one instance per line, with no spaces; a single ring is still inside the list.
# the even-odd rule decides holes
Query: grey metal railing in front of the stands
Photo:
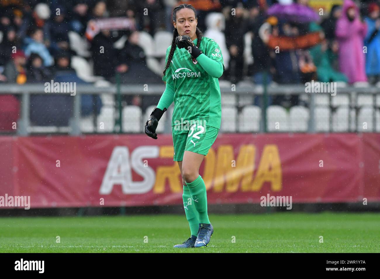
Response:
[[[261,132],[266,132],[266,108],[264,107],[264,102],[262,98],[265,95],[301,95],[306,94],[309,96],[309,126],[308,132],[315,132],[315,95],[317,93],[307,93],[305,90],[305,85],[275,85],[268,86],[264,88],[263,85],[240,85],[234,88],[220,86],[221,94],[236,94],[236,95],[251,95],[260,96],[261,98],[261,108],[263,112],[263,117],[261,117]],[[73,98],[73,114],[69,121],[70,123],[70,134],[80,135],[80,118],[81,118],[81,94],[102,94],[108,93],[111,95],[161,95],[165,90],[165,85],[163,84],[149,84],[148,90],[146,85],[111,85],[107,87],[96,87],[94,85],[77,85],[76,93]],[[18,94],[21,95],[21,117],[17,121],[17,134],[21,136],[28,135],[28,127],[30,126],[30,95],[31,94],[52,94],[45,93],[44,84],[1,84],[0,85],[0,95],[2,94]],[[376,127],[376,95],[380,93],[379,87],[337,87],[336,95],[348,94],[350,96],[350,106],[349,111],[356,107],[356,96],[358,94],[368,94],[373,96],[373,125]],[[54,94],[70,94],[70,92],[54,93]],[[331,94],[330,93],[318,93],[318,94],[328,94],[330,96],[330,106],[331,106]],[[119,102],[119,115],[121,116],[121,106]],[[348,116],[350,117],[350,116]],[[120,118],[120,117],[119,117]],[[331,118],[331,114],[330,114]],[[356,114],[357,118],[357,114]],[[122,119],[120,118],[119,131],[122,130],[121,125]],[[331,124],[331,119],[330,119]]]

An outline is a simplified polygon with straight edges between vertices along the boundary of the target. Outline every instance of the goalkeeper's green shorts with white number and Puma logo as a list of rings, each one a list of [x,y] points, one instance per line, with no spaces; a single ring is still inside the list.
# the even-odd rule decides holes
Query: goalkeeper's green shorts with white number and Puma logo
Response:
[[[185,151],[206,156],[219,132],[218,128],[208,125],[193,124],[188,130],[176,130],[175,127],[171,127],[174,146],[173,161],[182,161]]]

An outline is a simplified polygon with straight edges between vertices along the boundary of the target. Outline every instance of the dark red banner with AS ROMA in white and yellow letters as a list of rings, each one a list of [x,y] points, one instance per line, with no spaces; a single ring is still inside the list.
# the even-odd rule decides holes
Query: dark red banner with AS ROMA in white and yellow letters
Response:
[[[182,203],[171,135],[3,136],[0,154],[0,198],[31,208]],[[380,201],[380,134],[220,133],[199,174],[209,203]]]

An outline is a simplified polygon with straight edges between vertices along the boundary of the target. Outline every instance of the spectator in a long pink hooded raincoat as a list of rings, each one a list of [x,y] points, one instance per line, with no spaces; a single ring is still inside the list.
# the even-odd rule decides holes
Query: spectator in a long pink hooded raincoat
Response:
[[[350,84],[367,82],[363,52],[367,24],[361,21],[359,8],[353,1],[344,1],[335,33],[339,43],[340,71],[348,77]]]

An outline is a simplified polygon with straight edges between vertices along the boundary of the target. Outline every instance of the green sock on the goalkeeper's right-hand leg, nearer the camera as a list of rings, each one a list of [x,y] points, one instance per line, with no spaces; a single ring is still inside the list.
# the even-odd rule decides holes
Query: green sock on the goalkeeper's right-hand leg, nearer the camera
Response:
[[[192,195],[193,204],[199,213],[199,223],[210,224],[207,215],[207,193],[203,178],[199,175],[193,182],[187,183]]]

